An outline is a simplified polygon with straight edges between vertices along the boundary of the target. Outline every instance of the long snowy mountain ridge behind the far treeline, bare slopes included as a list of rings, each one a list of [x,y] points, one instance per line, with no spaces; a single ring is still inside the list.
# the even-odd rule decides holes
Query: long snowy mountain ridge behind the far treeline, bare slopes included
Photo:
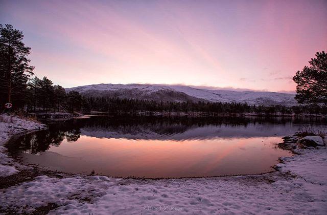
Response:
[[[294,94],[256,91],[206,90],[184,85],[160,84],[92,84],[67,88],[66,92],[77,91],[84,96],[109,96],[155,101],[210,101],[241,102],[263,105],[296,105]]]

